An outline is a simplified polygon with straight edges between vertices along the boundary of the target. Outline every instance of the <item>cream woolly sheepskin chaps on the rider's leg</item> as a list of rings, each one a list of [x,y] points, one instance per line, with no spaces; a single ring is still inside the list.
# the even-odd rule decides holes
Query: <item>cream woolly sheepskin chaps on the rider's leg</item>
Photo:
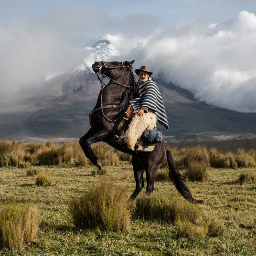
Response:
[[[143,116],[138,116],[137,113],[135,113],[135,116],[132,117],[132,121],[125,132],[124,142],[127,144],[127,147],[135,150],[135,145],[138,144],[142,133],[145,130],[149,131],[156,127],[156,121],[156,115],[153,112],[149,111]]]

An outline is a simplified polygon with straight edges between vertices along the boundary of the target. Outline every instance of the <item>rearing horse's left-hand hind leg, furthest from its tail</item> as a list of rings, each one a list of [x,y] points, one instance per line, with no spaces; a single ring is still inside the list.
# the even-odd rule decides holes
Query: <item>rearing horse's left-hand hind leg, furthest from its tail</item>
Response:
[[[132,156],[132,166],[133,175],[136,182],[136,188],[129,200],[135,199],[139,195],[141,189],[144,187],[143,173],[145,170],[143,169],[143,167],[140,166],[140,159],[138,157]]]

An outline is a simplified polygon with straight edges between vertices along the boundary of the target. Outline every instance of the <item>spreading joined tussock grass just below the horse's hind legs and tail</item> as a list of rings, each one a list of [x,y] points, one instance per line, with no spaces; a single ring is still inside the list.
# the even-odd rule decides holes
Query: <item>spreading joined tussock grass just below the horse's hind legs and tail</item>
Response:
[[[223,221],[204,214],[200,208],[178,197],[143,196],[134,209],[138,218],[171,221],[177,226],[179,236],[203,240],[205,236],[217,236],[224,231]]]

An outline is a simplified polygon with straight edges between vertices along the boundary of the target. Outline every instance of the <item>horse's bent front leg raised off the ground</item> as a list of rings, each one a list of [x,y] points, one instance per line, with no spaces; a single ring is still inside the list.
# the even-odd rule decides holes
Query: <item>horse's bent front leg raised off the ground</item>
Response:
[[[98,157],[92,152],[91,145],[93,143],[104,140],[107,137],[108,133],[100,131],[93,133],[92,128],[79,140],[79,144],[84,151],[84,154],[89,160],[95,164],[99,169],[101,168],[101,161],[98,160]]]

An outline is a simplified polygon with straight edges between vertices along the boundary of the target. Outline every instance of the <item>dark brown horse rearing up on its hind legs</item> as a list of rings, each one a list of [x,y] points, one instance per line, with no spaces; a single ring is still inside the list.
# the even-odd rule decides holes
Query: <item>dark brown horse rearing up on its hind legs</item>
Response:
[[[90,130],[80,138],[80,145],[86,157],[101,168],[101,161],[92,152],[93,143],[104,141],[119,151],[132,155],[132,166],[136,188],[130,199],[136,198],[140,190],[144,187],[143,173],[146,171],[147,195],[154,190],[155,172],[168,162],[169,176],[180,194],[190,202],[200,203],[192,197],[189,189],[184,184],[184,177],[180,174],[174,164],[171,152],[166,148],[164,141],[157,143],[152,152],[138,152],[128,149],[125,144],[115,142],[114,135],[116,127],[123,117],[124,109],[129,100],[132,99],[136,89],[136,82],[133,76],[133,64],[131,62],[103,62],[96,61],[92,64],[93,71],[102,75],[101,91],[96,106],[90,114]],[[110,79],[109,83],[103,88],[103,77]]]

